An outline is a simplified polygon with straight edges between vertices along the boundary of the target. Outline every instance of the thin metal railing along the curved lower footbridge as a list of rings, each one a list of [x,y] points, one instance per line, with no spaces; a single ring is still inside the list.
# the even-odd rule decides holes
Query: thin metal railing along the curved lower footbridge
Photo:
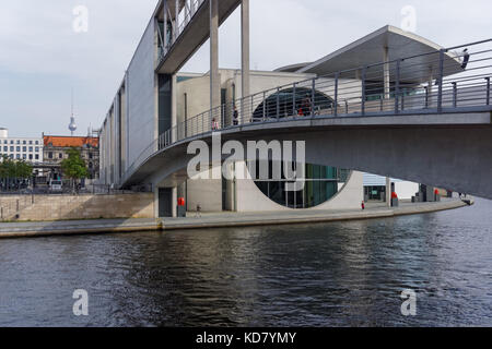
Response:
[[[251,123],[492,110],[491,76],[492,39],[487,39],[262,91],[165,131],[137,157],[124,182],[176,142]]]

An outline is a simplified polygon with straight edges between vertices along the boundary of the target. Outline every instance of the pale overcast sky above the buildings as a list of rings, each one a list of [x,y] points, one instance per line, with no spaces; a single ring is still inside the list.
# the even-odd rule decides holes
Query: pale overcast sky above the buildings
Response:
[[[69,134],[71,88],[78,134],[101,127],[157,0],[2,0],[0,127],[11,136]],[[73,31],[73,9],[89,31]],[[417,13],[415,33],[442,46],[490,38],[490,0],[250,0],[251,69],[314,61]],[[241,67],[241,17],[220,28],[220,67]],[[207,72],[208,44],[183,71]]]

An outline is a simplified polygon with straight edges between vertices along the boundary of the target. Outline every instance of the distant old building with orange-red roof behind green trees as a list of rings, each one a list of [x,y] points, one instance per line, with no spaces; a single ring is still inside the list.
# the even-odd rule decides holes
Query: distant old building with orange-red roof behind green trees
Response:
[[[43,165],[47,179],[61,177],[61,161],[68,158],[68,151],[77,148],[89,170],[87,179],[99,176],[99,140],[92,136],[43,135]]]

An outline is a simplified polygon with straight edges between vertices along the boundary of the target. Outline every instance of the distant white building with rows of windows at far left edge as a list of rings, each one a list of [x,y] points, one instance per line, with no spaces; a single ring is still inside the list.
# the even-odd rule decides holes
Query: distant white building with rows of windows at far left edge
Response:
[[[3,156],[32,164],[42,163],[43,139],[9,137],[9,130],[0,128],[0,158]]]

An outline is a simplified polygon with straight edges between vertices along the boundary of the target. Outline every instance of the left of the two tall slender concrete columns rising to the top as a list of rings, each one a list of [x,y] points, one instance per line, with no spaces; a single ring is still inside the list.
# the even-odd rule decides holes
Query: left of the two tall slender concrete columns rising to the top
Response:
[[[219,79],[219,0],[210,0],[210,108],[221,105]]]

